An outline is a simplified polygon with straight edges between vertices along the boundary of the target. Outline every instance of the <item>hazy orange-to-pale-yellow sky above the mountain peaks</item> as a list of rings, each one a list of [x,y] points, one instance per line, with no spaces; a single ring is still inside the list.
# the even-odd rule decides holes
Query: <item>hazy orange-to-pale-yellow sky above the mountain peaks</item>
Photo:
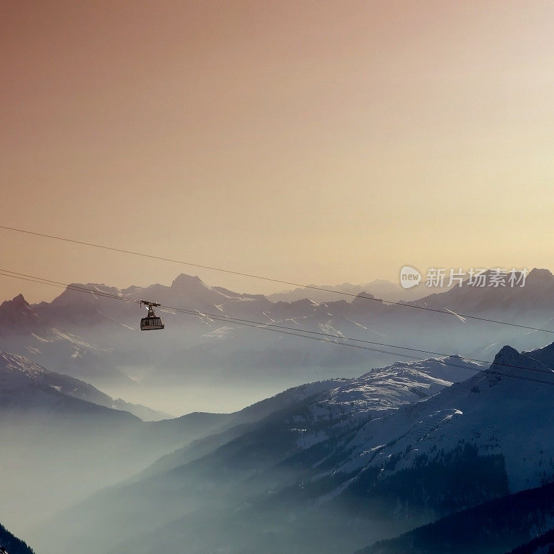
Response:
[[[0,3],[0,225],[296,283],[554,268],[554,3]],[[0,230],[62,283],[265,281]],[[59,290],[0,276],[0,300]]]

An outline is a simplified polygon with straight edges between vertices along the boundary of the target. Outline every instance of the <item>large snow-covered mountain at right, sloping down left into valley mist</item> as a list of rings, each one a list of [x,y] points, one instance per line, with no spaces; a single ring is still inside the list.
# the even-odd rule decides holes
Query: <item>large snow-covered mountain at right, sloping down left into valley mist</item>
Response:
[[[450,357],[346,379],[177,450],[56,526],[102,528],[112,554],[353,552],[542,487],[554,481],[554,375],[533,355],[506,346],[490,368]],[[78,539],[84,553],[98,546]]]

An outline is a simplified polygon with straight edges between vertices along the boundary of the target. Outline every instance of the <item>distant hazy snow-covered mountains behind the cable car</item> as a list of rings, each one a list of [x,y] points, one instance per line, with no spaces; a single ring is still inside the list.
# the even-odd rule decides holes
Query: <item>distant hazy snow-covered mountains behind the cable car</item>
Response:
[[[286,328],[307,330],[312,338],[318,338],[314,333],[345,335],[490,360],[502,344],[531,350],[545,340],[544,332],[387,305],[363,293],[321,304],[308,299],[272,302],[261,295],[210,287],[184,274],[170,286],[78,286],[201,312],[191,316],[162,310],[166,330],[145,337],[137,332],[143,315],[138,305],[99,294],[67,289],[51,303],[28,305],[17,296],[0,305],[0,348],[28,355],[112,395],[127,395],[127,391],[142,387],[147,397],[146,389],[151,387],[214,384],[239,393],[253,379],[269,387],[266,390],[278,391],[337,375],[352,377],[368,366],[399,359],[394,353],[337,348],[325,341],[287,335]],[[535,269],[525,287],[454,287],[414,304],[548,327],[554,307],[554,276]],[[260,330],[215,316],[274,323],[285,329],[269,332],[263,325]]]

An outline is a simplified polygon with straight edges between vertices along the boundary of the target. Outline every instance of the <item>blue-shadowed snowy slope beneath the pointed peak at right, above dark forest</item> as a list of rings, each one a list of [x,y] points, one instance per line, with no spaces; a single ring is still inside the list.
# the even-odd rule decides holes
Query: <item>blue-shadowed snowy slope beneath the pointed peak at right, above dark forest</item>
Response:
[[[554,382],[548,373],[510,367],[516,365],[548,372],[508,346],[490,372]],[[348,475],[373,467],[383,470],[379,479],[386,479],[467,443],[482,454],[503,456],[510,491],[540,485],[554,477],[553,392],[546,384],[479,373],[425,402],[368,422],[346,445],[351,452],[338,471]],[[396,460],[393,467],[391,459]]]

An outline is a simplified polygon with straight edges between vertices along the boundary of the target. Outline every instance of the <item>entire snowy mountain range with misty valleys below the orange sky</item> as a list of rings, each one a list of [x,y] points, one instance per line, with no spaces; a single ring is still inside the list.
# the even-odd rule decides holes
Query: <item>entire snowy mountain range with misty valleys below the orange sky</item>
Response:
[[[41,554],[69,554],[75,544],[82,554],[169,554],[184,544],[192,554],[388,553],[406,544],[423,553],[448,550],[448,540],[454,551],[465,544],[454,530],[487,506],[498,519],[467,548],[479,551],[486,533],[503,538],[496,550],[483,542],[483,553],[547,544],[554,343],[544,346],[538,328],[551,325],[550,272],[533,270],[521,289],[455,287],[415,309],[364,293],[271,302],[184,275],[170,287],[85,286],[96,294],[66,289],[51,303],[20,295],[0,305],[0,346],[10,348],[0,351],[0,496],[10,506],[2,521]],[[166,330],[143,334],[135,303],[100,292],[186,302],[196,315],[166,308]],[[537,330],[493,331],[463,314]],[[382,352],[327,335],[375,335],[359,344]],[[384,353],[400,340],[418,350]],[[406,361],[435,348],[453,353]],[[254,380],[286,390],[218,409],[220,390],[233,395]],[[173,419],[110,390],[148,398],[159,386],[181,395],[198,383],[215,409]],[[512,513],[523,523],[508,533]]]

